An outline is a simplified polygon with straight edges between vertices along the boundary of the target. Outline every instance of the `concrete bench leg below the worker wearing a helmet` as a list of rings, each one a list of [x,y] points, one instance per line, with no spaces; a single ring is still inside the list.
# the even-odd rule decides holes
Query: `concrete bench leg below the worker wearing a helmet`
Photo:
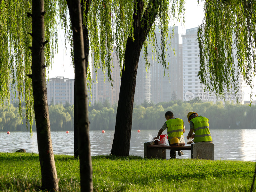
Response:
[[[191,159],[196,158],[214,160],[214,144],[208,142],[191,144]]]

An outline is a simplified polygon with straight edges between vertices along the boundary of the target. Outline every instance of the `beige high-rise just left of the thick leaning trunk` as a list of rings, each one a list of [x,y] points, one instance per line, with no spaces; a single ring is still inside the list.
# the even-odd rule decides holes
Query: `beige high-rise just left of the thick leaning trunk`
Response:
[[[92,59],[93,60],[93,59]],[[113,67],[111,68],[111,77],[113,79],[113,88],[111,83],[108,81],[108,74],[105,71],[106,79],[104,82],[104,74],[102,69],[97,70],[97,81],[94,69],[92,69],[92,104],[95,102],[103,103],[108,100],[111,105],[118,103],[119,90],[120,90],[120,67],[115,51],[112,54]]]

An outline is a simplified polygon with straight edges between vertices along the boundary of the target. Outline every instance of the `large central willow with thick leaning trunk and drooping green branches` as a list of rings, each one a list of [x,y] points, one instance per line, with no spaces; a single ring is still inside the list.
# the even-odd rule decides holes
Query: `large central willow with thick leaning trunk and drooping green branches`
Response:
[[[122,69],[120,76],[122,76],[123,80],[121,80],[122,91],[120,91],[121,96],[118,102],[119,113],[116,118],[118,122],[116,123],[116,136],[113,147],[119,148],[118,150],[122,151],[125,155],[129,155],[132,106],[140,50],[144,44],[144,55],[147,60],[148,41],[154,42],[152,39],[155,38],[155,19],[159,21],[159,28],[162,34],[161,56],[159,60],[163,67],[168,69],[168,64],[166,64],[165,60],[168,42],[168,24],[171,16],[173,19],[179,19],[181,17],[181,14],[184,12],[184,0],[174,0],[171,4],[171,10],[169,10],[169,3],[166,0],[139,2],[131,0],[99,2],[92,0],[89,6],[88,16],[85,14],[87,13],[86,11],[83,12],[83,22],[88,27],[89,47],[93,58],[92,70],[95,70],[97,74],[97,69],[102,68],[104,77],[105,71],[107,71],[108,81],[112,82],[112,53],[114,52],[119,58],[119,67]],[[71,46],[73,46],[73,39],[70,38],[71,33],[68,27],[70,23],[68,23],[65,7],[61,9],[60,13],[61,24],[65,29],[65,39],[68,39]],[[151,27],[152,25],[153,27]],[[87,50],[89,50],[89,47]],[[131,60],[132,57],[129,57],[129,54],[135,57],[134,60]],[[73,49],[71,55],[73,55]],[[150,66],[148,60],[147,66]],[[87,83],[90,86],[92,79],[89,72],[90,70],[87,70]],[[75,116],[74,127],[76,126]],[[116,140],[120,142],[116,142]],[[125,150],[123,150],[124,148]],[[120,155],[121,153],[112,150],[112,154]]]

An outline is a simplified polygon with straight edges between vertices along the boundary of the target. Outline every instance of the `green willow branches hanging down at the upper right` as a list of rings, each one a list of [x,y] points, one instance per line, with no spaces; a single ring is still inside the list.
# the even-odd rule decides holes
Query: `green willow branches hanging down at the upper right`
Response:
[[[198,76],[205,91],[221,95],[233,89],[237,93],[240,76],[247,86],[253,88],[256,1],[205,0],[204,12],[205,18],[197,36],[200,51]],[[253,183],[254,180],[255,174]]]

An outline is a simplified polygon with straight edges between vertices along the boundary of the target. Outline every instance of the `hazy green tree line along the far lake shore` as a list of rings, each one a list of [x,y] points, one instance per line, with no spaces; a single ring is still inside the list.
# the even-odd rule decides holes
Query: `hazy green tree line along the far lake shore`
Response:
[[[90,130],[114,130],[116,123],[117,104],[110,105],[96,102],[89,106]],[[249,128],[256,126],[256,106],[234,104],[231,102],[195,102],[170,101],[154,104],[144,102],[134,105],[132,116],[132,129],[160,129],[165,122],[164,114],[172,111],[175,117],[181,118],[187,129],[189,124],[187,114],[195,111],[198,115],[209,119],[211,129],[223,128]],[[10,104],[9,107],[0,107],[0,131],[27,131],[25,110],[22,111],[22,123],[19,116],[19,107]],[[49,106],[49,116],[52,131],[73,130],[74,105],[57,104]],[[33,123],[35,128],[35,123]]]

